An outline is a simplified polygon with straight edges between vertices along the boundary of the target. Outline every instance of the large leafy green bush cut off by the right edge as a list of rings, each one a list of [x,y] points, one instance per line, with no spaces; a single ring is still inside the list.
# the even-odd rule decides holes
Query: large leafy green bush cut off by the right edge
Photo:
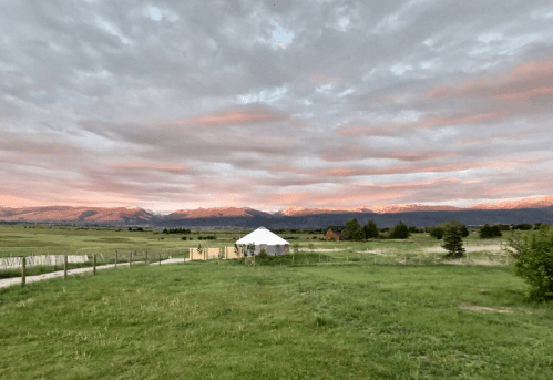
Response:
[[[515,234],[508,239],[514,258],[514,274],[530,286],[528,298],[532,301],[553,299],[553,229],[549,226],[522,237]]]

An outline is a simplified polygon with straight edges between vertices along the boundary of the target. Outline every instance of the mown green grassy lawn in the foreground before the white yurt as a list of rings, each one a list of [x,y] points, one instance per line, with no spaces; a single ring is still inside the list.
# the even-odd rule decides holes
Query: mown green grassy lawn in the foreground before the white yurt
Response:
[[[107,269],[0,289],[0,378],[552,379],[523,292],[505,267]]]

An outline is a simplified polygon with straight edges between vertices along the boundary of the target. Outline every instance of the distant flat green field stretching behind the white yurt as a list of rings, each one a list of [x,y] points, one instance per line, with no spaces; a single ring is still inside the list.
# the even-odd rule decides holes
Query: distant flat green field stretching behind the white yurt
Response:
[[[242,236],[250,230],[242,230]],[[474,258],[499,254],[489,247],[498,246],[505,242],[510,233],[504,233],[501,239],[479,239],[477,234],[471,234],[464,239],[465,248]],[[214,240],[199,240],[199,236],[215,235]],[[223,248],[234,245],[238,237],[237,230],[193,230],[190,235],[166,235],[161,230],[129,232],[126,228],[115,227],[75,227],[75,226],[48,226],[48,225],[0,225],[0,257],[29,256],[31,254],[88,254],[111,256],[115,250],[139,254],[172,253],[174,257],[187,255],[188,248],[196,248],[198,244],[204,247]],[[182,237],[186,237],[183,240]],[[348,253],[373,250],[380,256],[393,255],[402,257],[432,257],[437,255],[426,249],[437,248],[440,240],[428,234],[412,234],[406,240],[369,240],[369,242],[327,242],[320,240],[322,235],[315,234],[281,234],[290,245],[298,244],[300,249],[338,249],[339,257]],[[190,239],[192,238],[192,240]],[[293,248],[293,247],[290,247]],[[474,251],[474,249],[477,250]],[[370,255],[370,253],[368,253]],[[438,255],[439,256],[439,255]],[[471,255],[472,256],[472,255]],[[503,259],[504,260],[504,259]]]

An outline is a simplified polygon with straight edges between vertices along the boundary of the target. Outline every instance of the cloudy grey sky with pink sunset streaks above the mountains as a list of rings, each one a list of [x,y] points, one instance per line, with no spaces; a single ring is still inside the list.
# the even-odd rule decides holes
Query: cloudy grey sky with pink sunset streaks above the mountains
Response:
[[[0,1],[0,206],[553,195],[553,2]]]

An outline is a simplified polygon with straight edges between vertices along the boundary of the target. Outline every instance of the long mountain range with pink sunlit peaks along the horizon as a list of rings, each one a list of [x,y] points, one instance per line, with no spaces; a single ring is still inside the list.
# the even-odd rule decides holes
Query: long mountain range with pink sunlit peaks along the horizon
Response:
[[[417,204],[329,208],[290,206],[276,213],[266,213],[250,207],[215,207],[180,209],[168,215],[139,207],[0,207],[2,222],[153,227],[250,228],[263,225],[273,228],[326,228],[329,225],[344,225],[351,218],[357,218],[361,224],[373,219],[379,227],[389,227],[399,220],[419,227],[448,220],[467,225],[552,223],[553,196],[480,204],[469,208]]]

